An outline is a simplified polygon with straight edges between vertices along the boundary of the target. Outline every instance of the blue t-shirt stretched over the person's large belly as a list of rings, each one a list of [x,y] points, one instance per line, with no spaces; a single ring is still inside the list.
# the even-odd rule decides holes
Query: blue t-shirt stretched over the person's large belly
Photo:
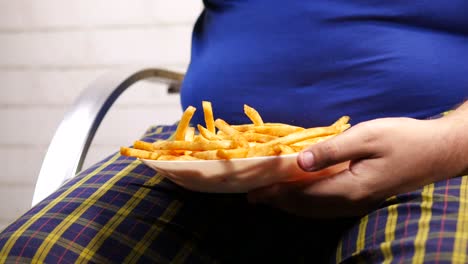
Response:
[[[426,118],[468,99],[466,0],[206,0],[182,106],[215,118],[328,125]]]

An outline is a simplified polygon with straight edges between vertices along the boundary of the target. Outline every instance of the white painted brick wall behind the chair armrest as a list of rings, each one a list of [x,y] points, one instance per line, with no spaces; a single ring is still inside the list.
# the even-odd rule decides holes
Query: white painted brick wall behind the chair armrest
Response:
[[[184,71],[200,11],[201,1],[0,0],[0,229],[29,208],[47,146],[80,92],[122,66]],[[162,88],[142,82],[124,93],[85,166],[180,116],[178,96]]]

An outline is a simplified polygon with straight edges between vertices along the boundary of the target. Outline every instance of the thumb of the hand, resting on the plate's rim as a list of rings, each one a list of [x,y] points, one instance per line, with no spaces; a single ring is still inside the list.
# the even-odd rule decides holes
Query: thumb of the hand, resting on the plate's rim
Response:
[[[375,139],[368,125],[357,125],[302,151],[297,162],[303,170],[315,171],[344,161],[369,157],[376,154]]]

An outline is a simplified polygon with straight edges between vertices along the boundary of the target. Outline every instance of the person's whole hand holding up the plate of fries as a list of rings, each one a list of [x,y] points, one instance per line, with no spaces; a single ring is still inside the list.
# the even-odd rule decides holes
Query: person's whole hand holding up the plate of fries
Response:
[[[349,160],[348,169],[319,181],[261,188],[248,198],[310,217],[363,215],[392,195],[462,173],[466,126],[461,131],[454,127],[448,118],[384,118],[358,124],[298,156],[306,171]]]

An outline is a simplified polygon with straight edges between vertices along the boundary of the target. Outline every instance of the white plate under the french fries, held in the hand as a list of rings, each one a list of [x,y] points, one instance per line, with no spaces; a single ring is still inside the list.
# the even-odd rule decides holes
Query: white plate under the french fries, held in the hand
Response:
[[[348,166],[348,163],[341,163],[317,172],[304,172],[297,165],[297,155],[232,160],[141,161],[182,187],[213,193],[243,193],[277,182],[325,177]]]

